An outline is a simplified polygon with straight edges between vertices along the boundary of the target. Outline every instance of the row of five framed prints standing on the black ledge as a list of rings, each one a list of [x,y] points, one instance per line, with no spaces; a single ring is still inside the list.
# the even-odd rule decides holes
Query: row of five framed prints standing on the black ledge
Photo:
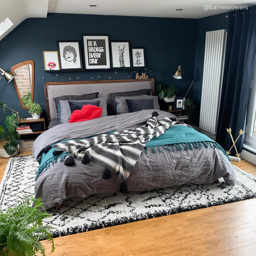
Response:
[[[45,71],[131,70],[146,67],[144,47],[131,47],[129,40],[109,41],[109,36],[82,36],[57,41],[58,51],[43,51]]]

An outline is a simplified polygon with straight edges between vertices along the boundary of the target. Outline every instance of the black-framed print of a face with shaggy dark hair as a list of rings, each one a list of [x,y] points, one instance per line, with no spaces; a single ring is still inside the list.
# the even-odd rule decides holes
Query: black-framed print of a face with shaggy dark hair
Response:
[[[57,41],[61,69],[82,69],[80,41]]]

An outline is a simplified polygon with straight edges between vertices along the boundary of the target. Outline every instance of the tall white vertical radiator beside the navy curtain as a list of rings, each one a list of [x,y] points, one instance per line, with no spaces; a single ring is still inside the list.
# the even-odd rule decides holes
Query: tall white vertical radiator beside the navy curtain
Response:
[[[206,32],[199,128],[216,134],[227,29]]]

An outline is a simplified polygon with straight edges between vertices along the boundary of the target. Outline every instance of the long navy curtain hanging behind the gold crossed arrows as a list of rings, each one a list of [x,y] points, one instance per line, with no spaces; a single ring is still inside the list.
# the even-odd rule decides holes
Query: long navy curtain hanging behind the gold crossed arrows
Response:
[[[234,140],[245,130],[245,119],[256,55],[256,7],[229,13],[227,47],[224,63],[219,120],[216,141],[229,150]],[[245,134],[244,134],[245,135]],[[240,153],[244,135],[235,144]],[[232,155],[235,154],[234,147]]]

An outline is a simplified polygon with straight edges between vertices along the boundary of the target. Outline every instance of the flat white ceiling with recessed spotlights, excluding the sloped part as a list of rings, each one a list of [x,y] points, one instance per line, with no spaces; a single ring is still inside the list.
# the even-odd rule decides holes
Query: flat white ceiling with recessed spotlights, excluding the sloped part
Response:
[[[211,6],[246,6],[255,0],[50,0],[48,12],[168,18],[203,18],[229,10],[204,11]],[[96,4],[97,7],[89,7]],[[183,9],[183,11],[176,11]]]

